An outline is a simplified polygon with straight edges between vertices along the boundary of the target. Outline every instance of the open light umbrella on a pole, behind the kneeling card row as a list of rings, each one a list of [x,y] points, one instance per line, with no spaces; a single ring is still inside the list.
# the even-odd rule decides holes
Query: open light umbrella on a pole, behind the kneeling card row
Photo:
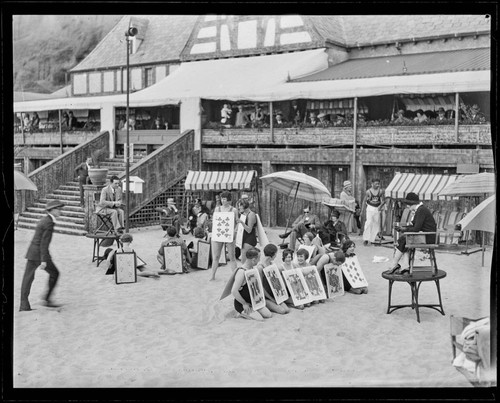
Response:
[[[284,193],[288,196],[293,195],[292,208],[290,209],[290,215],[286,220],[285,233],[288,230],[288,224],[290,223],[290,217],[297,198],[320,203],[325,197],[332,197],[330,191],[325,185],[323,185],[323,183],[321,183],[318,179],[301,172],[274,172],[272,174],[262,176],[260,179],[263,184],[269,186],[271,189]]]

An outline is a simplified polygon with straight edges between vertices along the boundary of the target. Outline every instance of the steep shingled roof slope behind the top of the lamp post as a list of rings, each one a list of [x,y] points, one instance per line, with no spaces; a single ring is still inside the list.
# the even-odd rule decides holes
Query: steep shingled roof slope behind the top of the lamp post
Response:
[[[95,49],[71,72],[124,66],[127,58],[125,31],[130,16],[123,17]],[[194,27],[195,15],[141,15],[147,19],[147,33],[130,65],[179,61],[179,56]]]

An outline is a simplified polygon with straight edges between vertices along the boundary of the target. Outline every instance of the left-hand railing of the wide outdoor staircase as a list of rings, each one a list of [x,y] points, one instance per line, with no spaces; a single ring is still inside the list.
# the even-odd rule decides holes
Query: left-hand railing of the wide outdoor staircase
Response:
[[[84,162],[97,149],[109,152],[109,132],[100,133],[96,138],[76,146],[28,174],[38,191],[26,192],[26,204],[23,209],[32,206],[36,200],[45,198],[59,186],[74,180],[76,166]]]

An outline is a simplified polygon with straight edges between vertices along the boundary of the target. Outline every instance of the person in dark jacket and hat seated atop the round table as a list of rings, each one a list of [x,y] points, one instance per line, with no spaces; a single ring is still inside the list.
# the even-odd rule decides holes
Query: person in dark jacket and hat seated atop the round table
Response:
[[[406,199],[403,200],[404,203],[408,204],[411,211],[415,212],[412,218],[411,225],[407,227],[396,227],[398,232],[434,232],[437,230],[436,220],[431,213],[431,211],[425,207],[419,200],[418,195],[410,192],[406,195]],[[432,244],[436,242],[436,236],[433,234],[425,236],[425,243]],[[396,253],[394,254],[394,259],[392,261],[392,267],[386,271],[388,274],[405,274],[409,273],[410,269],[405,268],[401,270],[401,265],[399,261],[403,257],[403,254],[407,251],[406,249],[406,236],[402,235],[398,239],[398,246],[396,247]]]

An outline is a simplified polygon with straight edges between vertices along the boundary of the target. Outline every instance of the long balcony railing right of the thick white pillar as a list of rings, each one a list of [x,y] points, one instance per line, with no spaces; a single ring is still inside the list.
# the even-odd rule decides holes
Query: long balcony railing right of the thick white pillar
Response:
[[[491,125],[365,126],[357,128],[358,145],[484,145],[491,146]],[[203,145],[352,145],[352,127],[203,129]]]

